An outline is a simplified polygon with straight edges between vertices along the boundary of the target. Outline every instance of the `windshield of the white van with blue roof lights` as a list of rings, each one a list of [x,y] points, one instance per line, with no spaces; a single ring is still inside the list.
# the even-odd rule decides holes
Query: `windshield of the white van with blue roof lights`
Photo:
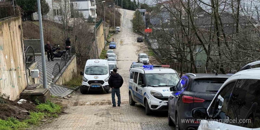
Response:
[[[147,84],[154,87],[176,86],[179,77],[176,73],[145,74]]]

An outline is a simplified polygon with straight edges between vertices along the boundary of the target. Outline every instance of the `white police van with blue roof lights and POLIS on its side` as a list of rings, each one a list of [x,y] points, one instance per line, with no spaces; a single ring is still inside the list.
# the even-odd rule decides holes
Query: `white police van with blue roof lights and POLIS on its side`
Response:
[[[180,77],[169,65],[148,65],[132,68],[129,74],[129,104],[139,103],[152,111],[168,111],[170,87],[176,86]]]

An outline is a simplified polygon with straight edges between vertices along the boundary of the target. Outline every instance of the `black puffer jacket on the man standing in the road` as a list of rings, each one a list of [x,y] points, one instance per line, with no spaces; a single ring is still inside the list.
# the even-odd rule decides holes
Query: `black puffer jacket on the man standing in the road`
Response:
[[[122,78],[122,76],[118,73],[116,74],[111,74],[111,76],[108,79],[108,84],[109,86],[112,88],[120,88],[124,83],[124,80]]]

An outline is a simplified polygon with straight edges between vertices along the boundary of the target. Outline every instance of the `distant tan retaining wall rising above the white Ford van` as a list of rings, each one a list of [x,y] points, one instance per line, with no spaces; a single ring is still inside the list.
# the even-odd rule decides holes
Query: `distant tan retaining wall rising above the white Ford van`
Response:
[[[104,27],[102,22],[99,27],[97,27],[96,35],[97,35],[97,46],[98,46],[98,54],[101,54],[102,49],[105,47],[105,38],[104,38]]]

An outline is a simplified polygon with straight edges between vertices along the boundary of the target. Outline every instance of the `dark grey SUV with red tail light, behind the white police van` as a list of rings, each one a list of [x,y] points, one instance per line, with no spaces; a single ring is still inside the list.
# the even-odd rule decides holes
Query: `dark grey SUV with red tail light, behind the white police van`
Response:
[[[179,80],[168,97],[168,124],[176,130],[195,130],[199,126],[191,115],[194,108],[207,108],[221,85],[230,77],[227,74],[187,73]]]

